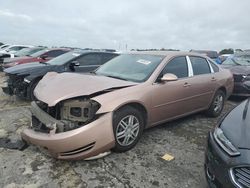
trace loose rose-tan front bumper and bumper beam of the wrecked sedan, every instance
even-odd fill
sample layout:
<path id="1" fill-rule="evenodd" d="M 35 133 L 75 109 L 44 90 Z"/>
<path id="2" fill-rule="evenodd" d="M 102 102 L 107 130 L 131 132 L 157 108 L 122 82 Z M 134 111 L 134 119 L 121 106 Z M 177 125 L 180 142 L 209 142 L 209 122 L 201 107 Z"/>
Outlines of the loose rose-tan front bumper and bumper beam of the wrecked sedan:
<path id="1" fill-rule="evenodd" d="M 35 102 L 31 104 L 33 118 L 40 126 L 45 126 L 45 131 L 38 131 L 39 127 L 32 125 L 32 121 L 31 127 L 21 133 L 22 139 L 48 150 L 55 158 L 85 159 L 106 152 L 115 144 L 112 112 L 77 129 L 56 133 L 56 127 L 63 121 L 50 116 Z"/>

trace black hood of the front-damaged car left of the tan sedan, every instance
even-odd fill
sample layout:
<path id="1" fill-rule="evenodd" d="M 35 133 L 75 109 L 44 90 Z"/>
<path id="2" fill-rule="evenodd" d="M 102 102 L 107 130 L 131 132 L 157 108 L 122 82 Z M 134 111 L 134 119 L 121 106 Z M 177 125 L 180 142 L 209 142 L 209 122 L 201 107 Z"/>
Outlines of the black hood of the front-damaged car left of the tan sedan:
<path id="1" fill-rule="evenodd" d="M 43 64 L 43 63 L 27 63 L 22 65 L 16 65 L 14 67 L 10 67 L 4 70 L 4 72 L 8 74 L 18 74 L 18 75 L 30 75 L 36 72 L 48 72 L 53 70 L 55 66 Z"/>

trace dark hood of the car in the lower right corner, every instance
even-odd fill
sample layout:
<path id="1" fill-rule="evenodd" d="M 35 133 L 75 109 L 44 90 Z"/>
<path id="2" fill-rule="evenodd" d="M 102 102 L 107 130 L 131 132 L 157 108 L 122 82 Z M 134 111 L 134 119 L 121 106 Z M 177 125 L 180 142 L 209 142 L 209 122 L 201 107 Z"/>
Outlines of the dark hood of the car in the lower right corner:
<path id="1" fill-rule="evenodd" d="M 249 100 L 234 108 L 220 126 L 225 136 L 240 149 L 250 149 Z"/>

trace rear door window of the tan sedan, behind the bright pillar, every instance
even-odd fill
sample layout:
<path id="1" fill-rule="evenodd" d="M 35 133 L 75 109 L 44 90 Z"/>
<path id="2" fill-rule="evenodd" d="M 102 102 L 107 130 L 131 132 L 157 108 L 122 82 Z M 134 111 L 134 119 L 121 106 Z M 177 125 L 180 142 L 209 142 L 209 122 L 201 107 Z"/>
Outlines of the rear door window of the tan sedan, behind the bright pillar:
<path id="1" fill-rule="evenodd" d="M 189 57 L 192 63 L 194 75 L 211 73 L 208 62 L 202 57 Z"/>

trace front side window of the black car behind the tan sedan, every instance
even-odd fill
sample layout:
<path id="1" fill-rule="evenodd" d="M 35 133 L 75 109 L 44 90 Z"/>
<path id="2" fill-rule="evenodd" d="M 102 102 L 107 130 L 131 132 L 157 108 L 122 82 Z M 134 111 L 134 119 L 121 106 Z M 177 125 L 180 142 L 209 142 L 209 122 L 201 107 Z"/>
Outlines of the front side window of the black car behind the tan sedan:
<path id="1" fill-rule="evenodd" d="M 77 60 L 80 63 L 80 66 L 87 66 L 87 65 L 101 65 L 101 55 L 98 53 L 87 54 L 80 57 Z"/>

